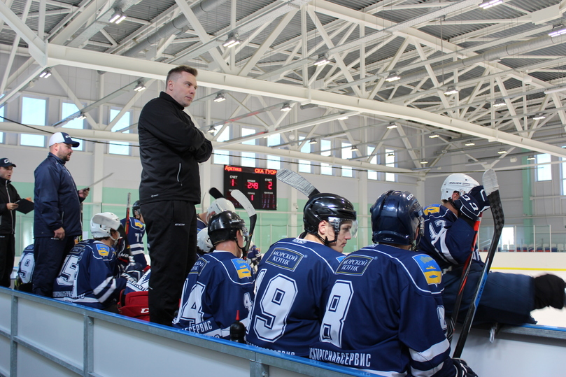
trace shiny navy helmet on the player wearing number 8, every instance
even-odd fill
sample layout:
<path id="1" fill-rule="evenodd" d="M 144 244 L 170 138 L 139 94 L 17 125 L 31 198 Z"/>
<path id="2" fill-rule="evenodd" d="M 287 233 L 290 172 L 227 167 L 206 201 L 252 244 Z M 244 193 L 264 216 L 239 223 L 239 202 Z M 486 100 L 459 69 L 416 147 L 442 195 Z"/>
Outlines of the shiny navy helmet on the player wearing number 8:
<path id="1" fill-rule="evenodd" d="M 423 207 L 410 192 L 384 192 L 369 212 L 372 213 L 372 240 L 375 243 L 418 243 L 417 229 L 419 233 L 423 232 Z"/>

